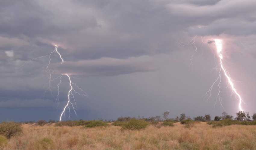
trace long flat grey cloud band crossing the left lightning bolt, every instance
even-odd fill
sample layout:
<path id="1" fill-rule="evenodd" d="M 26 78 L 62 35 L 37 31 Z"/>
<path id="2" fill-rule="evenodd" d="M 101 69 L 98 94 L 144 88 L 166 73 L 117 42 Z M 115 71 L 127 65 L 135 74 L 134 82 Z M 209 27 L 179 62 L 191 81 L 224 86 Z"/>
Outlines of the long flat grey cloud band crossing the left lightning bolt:
<path id="1" fill-rule="evenodd" d="M 151 72 L 157 68 L 153 62 L 129 59 L 100 58 L 97 60 L 68 61 L 58 65 L 55 73 L 81 76 L 117 76 L 135 72 Z"/>

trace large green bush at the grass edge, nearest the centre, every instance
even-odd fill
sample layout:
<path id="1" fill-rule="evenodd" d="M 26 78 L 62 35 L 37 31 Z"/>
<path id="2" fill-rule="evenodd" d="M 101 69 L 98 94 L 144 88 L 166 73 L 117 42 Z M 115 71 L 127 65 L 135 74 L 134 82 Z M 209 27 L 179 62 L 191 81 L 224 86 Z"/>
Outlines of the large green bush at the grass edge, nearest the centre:
<path id="1" fill-rule="evenodd" d="M 127 124 L 124 124 L 121 130 L 141 130 L 145 129 L 148 125 L 148 122 L 145 120 L 137 120 L 137 119 L 130 119 Z"/>

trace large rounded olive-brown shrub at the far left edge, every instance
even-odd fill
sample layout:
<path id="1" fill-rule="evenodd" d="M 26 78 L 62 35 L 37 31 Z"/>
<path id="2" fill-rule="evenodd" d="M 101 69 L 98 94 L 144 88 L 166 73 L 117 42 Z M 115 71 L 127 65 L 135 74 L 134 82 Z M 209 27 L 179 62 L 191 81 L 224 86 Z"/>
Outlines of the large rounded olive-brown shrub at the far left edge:
<path id="1" fill-rule="evenodd" d="M 14 137 L 17 134 L 22 133 L 21 124 L 18 122 L 2 122 L 0 124 L 0 134 L 5 136 L 7 139 Z"/>

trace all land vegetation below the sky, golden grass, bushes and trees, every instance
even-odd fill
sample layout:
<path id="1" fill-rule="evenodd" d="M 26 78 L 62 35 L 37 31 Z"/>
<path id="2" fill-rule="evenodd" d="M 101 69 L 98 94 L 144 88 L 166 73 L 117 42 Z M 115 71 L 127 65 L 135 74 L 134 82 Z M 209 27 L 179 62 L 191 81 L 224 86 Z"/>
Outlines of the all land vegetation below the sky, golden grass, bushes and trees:
<path id="1" fill-rule="evenodd" d="M 256 149 L 255 113 L 240 111 L 233 120 L 223 112 L 214 121 L 207 114 L 193 121 L 186 114 L 176 119 L 168 115 L 163 114 L 164 120 L 161 116 L 120 117 L 114 122 L 50 120 L 42 127 L 39 121 L 2 122 L 0 149 Z M 15 136 L 19 133 L 23 134 Z"/>

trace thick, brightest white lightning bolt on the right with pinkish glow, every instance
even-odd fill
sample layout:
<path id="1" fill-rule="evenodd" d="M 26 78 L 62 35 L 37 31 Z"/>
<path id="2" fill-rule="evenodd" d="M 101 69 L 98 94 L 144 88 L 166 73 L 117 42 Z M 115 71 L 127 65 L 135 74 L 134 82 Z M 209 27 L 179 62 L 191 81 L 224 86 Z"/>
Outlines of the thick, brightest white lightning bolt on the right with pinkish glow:
<path id="1" fill-rule="evenodd" d="M 236 88 L 235 88 L 235 86 L 234 86 L 234 83 L 233 83 L 233 80 L 231 79 L 231 77 L 230 77 L 230 74 L 229 74 L 229 72 L 226 70 L 226 68 L 223 66 L 223 55 L 222 55 L 222 40 L 220 40 L 220 39 L 215 39 L 214 40 L 215 41 L 215 45 L 216 45 L 216 50 L 217 50 L 217 55 L 218 55 L 218 57 L 220 58 L 220 70 L 219 70 L 219 76 L 218 76 L 218 78 L 214 81 L 214 83 L 212 84 L 212 86 L 209 88 L 209 90 L 205 93 L 205 98 L 206 97 L 208 97 L 208 95 L 209 95 L 209 97 L 208 97 L 208 99 L 211 97 L 211 90 L 212 90 L 212 88 L 213 88 L 213 86 L 215 85 L 215 83 L 216 82 L 218 82 L 218 80 L 219 80 L 219 83 L 218 83 L 218 95 L 217 95 L 217 98 L 219 99 L 219 101 L 220 101 L 220 104 L 221 104 L 221 106 L 222 106 L 222 99 L 221 99 L 221 97 L 220 97 L 220 83 L 221 83 L 221 72 L 223 72 L 224 73 L 224 75 L 225 75 L 225 77 L 226 77 L 226 79 L 227 79 L 227 81 L 228 81 L 228 84 L 231 86 L 231 90 L 232 90 L 232 94 L 233 93 L 235 93 L 235 95 L 236 95 L 236 98 L 238 97 L 238 100 L 239 100 L 239 106 L 238 106 L 238 108 L 239 108 L 239 111 L 243 111 L 242 110 L 242 103 L 244 103 L 243 102 L 243 100 L 242 100 L 242 98 L 241 98 L 241 96 L 239 95 L 239 93 L 236 91 Z M 232 95 L 231 94 L 231 95 Z M 216 98 L 216 100 L 217 100 L 217 98 Z M 207 99 L 207 100 L 208 100 Z M 216 104 L 216 103 L 215 103 Z M 223 107 L 223 106 L 222 106 Z"/>

